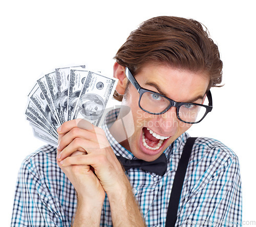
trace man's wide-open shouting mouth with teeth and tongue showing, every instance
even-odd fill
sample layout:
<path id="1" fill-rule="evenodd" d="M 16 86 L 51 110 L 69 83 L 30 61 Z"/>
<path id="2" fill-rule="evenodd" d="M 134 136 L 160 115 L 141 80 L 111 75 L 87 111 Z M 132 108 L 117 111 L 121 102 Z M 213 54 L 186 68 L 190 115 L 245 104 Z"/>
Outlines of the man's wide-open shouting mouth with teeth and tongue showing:
<path id="1" fill-rule="evenodd" d="M 163 137 L 152 131 L 150 128 L 142 129 L 142 143 L 143 146 L 149 150 L 158 150 L 163 145 L 163 142 L 169 137 Z"/>

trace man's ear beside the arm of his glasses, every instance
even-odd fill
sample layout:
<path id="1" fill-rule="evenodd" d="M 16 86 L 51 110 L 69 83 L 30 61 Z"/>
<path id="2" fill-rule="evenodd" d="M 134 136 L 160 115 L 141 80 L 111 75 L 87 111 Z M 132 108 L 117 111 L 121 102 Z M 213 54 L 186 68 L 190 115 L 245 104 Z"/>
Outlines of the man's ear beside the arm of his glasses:
<path id="1" fill-rule="evenodd" d="M 114 77 L 118 79 L 118 82 L 116 85 L 116 91 L 119 95 L 123 95 L 125 92 L 126 84 L 127 84 L 125 67 L 115 62 L 113 71 L 114 71 Z"/>

